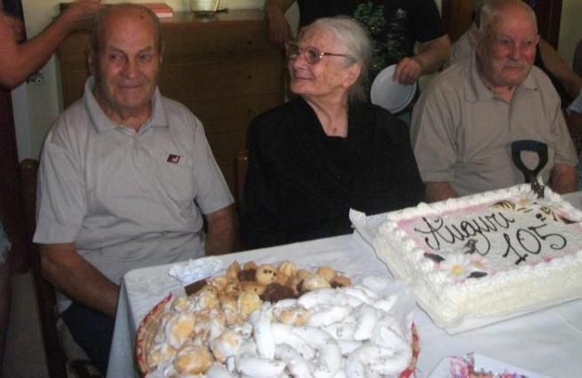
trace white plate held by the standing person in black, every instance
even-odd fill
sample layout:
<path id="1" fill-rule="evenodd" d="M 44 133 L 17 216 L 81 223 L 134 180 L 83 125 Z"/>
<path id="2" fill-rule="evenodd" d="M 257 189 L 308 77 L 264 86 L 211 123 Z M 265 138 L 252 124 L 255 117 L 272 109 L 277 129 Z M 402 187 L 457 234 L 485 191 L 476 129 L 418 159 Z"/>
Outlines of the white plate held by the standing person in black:
<path id="1" fill-rule="evenodd" d="M 406 107 L 414 97 L 417 83 L 402 85 L 392 79 L 396 65 L 381 70 L 371 83 L 371 103 L 382 106 L 390 113 L 398 113 Z"/>

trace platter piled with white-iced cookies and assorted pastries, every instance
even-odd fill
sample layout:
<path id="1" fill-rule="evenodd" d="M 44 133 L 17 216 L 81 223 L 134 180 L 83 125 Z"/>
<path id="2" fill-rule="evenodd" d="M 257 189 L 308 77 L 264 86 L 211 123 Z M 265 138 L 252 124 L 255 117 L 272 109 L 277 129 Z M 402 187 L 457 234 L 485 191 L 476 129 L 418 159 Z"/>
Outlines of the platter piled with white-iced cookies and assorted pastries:
<path id="1" fill-rule="evenodd" d="M 234 262 L 171 292 L 141 321 L 148 377 L 407 377 L 419 341 L 384 278 L 330 266 Z M 412 301 L 413 302 L 413 301 Z"/>

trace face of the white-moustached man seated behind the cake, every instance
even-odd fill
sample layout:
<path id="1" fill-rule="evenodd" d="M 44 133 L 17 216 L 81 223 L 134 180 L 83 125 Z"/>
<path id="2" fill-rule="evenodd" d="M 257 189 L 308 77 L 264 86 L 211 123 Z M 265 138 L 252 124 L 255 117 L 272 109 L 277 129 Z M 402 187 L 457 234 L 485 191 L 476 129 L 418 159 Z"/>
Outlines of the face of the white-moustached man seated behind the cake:
<path id="1" fill-rule="evenodd" d="M 539 35 L 525 12 L 507 12 L 482 36 L 477 55 L 483 80 L 496 87 L 515 87 L 530 73 Z"/>

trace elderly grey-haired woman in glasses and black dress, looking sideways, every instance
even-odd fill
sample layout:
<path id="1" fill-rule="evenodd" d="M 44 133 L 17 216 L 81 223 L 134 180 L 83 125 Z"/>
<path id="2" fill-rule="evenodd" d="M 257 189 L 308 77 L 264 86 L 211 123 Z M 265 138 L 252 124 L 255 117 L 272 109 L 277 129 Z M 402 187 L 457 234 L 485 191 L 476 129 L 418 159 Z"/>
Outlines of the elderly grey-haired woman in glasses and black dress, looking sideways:
<path id="1" fill-rule="evenodd" d="M 349 209 L 413 206 L 424 187 L 409 131 L 367 101 L 371 43 L 343 16 L 316 20 L 286 45 L 297 98 L 248 133 L 241 227 L 248 248 L 352 231 Z"/>

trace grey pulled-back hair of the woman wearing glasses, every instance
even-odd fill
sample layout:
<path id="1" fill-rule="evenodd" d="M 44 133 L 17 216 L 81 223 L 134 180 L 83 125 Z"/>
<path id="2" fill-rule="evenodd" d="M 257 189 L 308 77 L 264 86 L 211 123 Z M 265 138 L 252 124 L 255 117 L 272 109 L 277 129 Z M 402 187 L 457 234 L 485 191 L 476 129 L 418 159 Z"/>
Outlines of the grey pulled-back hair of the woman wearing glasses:
<path id="1" fill-rule="evenodd" d="M 299 38 L 310 29 L 322 29 L 334 35 L 339 43 L 347 49 L 346 67 L 356 63 L 360 65 L 360 75 L 348 89 L 350 103 L 366 101 L 368 99 L 368 67 L 371 63 L 371 41 L 368 31 L 357 20 L 347 16 L 325 17 L 315 20 L 312 24 L 302 28 Z M 335 52 L 335 51 L 334 51 Z"/>

